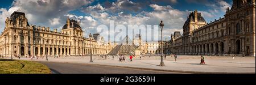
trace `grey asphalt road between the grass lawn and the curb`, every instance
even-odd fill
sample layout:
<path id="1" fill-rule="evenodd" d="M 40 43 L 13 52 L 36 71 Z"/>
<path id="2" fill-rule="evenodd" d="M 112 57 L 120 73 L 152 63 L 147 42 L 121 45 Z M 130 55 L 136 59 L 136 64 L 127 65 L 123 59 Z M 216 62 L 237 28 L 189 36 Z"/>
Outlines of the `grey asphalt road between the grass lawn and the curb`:
<path id="1" fill-rule="evenodd" d="M 180 74 L 168 71 L 131 69 L 126 67 L 100 66 L 82 63 L 40 62 L 53 74 Z"/>

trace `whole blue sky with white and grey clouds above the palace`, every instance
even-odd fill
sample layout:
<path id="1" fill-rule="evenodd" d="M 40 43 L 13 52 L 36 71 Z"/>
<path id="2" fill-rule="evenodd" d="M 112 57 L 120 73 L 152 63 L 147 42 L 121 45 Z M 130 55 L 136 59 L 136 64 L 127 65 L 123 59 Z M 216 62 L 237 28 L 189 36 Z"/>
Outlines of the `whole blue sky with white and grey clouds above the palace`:
<path id="1" fill-rule="evenodd" d="M 76 19 L 85 31 L 84 36 L 96 33 L 98 25 L 129 24 L 158 25 L 164 22 L 164 39 L 170 39 L 174 31 L 182 27 L 189 12 L 198 10 L 205 20 L 223 18 L 232 0 L 14 0 L 0 1 L 0 32 L 5 19 L 14 11 L 26 13 L 29 24 L 61 30 L 67 18 Z M 128 29 L 129 30 L 129 29 Z M 181 32 L 182 33 L 182 32 Z M 101 33 L 105 39 L 106 33 Z M 129 34 L 130 35 L 130 34 Z M 132 36 L 131 36 L 132 37 Z M 111 39 L 113 41 L 114 39 Z"/>

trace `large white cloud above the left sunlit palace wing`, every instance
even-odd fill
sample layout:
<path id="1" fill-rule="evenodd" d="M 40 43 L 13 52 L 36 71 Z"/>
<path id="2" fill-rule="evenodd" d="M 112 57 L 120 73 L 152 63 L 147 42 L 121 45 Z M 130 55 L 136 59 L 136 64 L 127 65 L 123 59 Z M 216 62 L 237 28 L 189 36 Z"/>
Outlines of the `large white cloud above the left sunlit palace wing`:
<path id="1" fill-rule="evenodd" d="M 93 0 L 15 0 L 9 8 L 9 14 L 14 11 L 25 12 L 28 23 L 48 26 L 51 29 L 62 27 L 67 20 L 69 11 L 88 5 Z M 82 18 L 78 16 L 77 18 Z M 48 21 L 48 22 L 47 22 Z M 2 23 L 1 23 L 2 24 Z M 51 24 L 51 25 L 48 25 Z"/>

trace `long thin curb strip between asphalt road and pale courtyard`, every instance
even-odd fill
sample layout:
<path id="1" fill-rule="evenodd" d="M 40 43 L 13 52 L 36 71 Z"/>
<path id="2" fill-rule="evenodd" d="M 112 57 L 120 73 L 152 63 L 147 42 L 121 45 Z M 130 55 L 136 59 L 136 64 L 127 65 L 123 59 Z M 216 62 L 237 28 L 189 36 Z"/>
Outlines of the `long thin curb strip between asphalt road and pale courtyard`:
<path id="1" fill-rule="evenodd" d="M 42 61 L 42 62 L 54 62 L 54 61 Z M 77 62 L 59 62 L 59 63 L 77 63 Z M 103 64 L 97 64 L 97 63 L 77 63 L 77 64 L 110 66 L 110 67 L 124 67 L 124 68 L 130 68 L 130 69 L 141 69 L 141 70 L 151 70 L 151 71 L 166 71 L 166 72 L 176 72 L 176 73 L 190 73 L 190 74 L 255 74 L 255 73 L 228 73 L 228 72 L 202 72 L 202 71 L 164 70 L 164 69 L 151 69 L 151 68 L 131 67 L 131 66 L 103 65 Z"/>

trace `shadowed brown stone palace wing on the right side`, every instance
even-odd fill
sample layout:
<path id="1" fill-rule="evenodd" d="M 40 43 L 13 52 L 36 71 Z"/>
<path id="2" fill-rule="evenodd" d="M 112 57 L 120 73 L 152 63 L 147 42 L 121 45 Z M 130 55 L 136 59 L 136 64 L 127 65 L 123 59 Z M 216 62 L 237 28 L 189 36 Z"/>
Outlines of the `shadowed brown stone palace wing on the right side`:
<path id="1" fill-rule="evenodd" d="M 205 23 L 199 12 L 191 12 L 183 35 L 168 41 L 171 52 L 255 57 L 255 0 L 233 0 L 232 8 L 227 8 L 224 16 Z"/>

